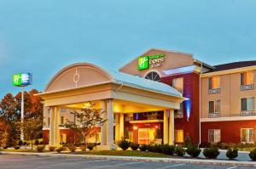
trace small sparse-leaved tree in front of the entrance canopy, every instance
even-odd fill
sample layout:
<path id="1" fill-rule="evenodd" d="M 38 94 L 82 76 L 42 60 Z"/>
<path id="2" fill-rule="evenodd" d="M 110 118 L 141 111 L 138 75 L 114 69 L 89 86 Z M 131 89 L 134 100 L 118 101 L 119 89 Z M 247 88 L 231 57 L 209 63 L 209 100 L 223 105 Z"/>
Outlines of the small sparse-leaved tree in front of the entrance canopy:
<path id="1" fill-rule="evenodd" d="M 69 121 L 63 125 L 66 128 L 73 130 L 73 132 L 79 134 L 84 141 L 84 151 L 87 147 L 87 138 L 93 134 L 93 128 L 96 126 L 102 126 L 107 120 L 102 118 L 102 109 L 95 109 L 93 104 L 90 104 L 88 108 L 82 109 L 81 112 L 73 111 L 75 121 Z"/>

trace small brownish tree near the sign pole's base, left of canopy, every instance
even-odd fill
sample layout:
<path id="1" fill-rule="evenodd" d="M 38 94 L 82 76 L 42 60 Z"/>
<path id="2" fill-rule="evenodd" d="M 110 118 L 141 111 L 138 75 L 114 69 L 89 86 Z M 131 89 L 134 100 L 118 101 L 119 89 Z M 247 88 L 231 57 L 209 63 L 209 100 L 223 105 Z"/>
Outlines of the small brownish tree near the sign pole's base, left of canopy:
<path id="1" fill-rule="evenodd" d="M 33 141 L 38 138 L 42 131 L 43 121 L 38 118 L 26 118 L 23 122 L 17 121 L 15 124 L 19 129 L 23 130 L 25 138 L 31 141 L 31 149 L 33 149 Z"/>

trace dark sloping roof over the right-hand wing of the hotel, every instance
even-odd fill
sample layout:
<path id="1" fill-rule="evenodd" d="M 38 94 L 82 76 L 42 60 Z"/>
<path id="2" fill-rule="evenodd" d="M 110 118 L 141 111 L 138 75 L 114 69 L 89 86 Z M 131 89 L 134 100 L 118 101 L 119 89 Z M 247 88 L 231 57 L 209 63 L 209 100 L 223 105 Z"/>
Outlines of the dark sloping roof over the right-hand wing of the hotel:
<path id="1" fill-rule="evenodd" d="M 215 67 L 215 69 L 211 70 L 209 72 L 221 71 L 221 70 L 232 70 L 232 69 L 236 69 L 236 68 L 253 66 L 253 65 L 256 65 L 256 60 L 232 62 L 232 63 L 228 63 L 228 64 L 223 64 L 223 65 L 214 65 L 213 67 Z"/>

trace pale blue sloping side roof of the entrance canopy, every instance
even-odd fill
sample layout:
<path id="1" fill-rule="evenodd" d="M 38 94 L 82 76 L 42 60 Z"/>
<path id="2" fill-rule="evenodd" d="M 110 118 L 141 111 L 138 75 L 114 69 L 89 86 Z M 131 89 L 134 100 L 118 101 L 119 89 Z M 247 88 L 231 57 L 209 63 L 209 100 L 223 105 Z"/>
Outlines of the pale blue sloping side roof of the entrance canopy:
<path id="1" fill-rule="evenodd" d="M 113 77 L 113 82 L 115 83 L 123 83 L 129 87 L 136 87 L 141 89 L 150 90 L 157 93 L 164 93 L 167 95 L 172 95 L 176 97 L 183 97 L 182 93 L 179 93 L 175 88 L 162 83 L 162 82 L 154 82 L 148 79 L 144 79 L 138 76 L 132 76 L 117 70 L 107 70 L 104 69 Z"/>

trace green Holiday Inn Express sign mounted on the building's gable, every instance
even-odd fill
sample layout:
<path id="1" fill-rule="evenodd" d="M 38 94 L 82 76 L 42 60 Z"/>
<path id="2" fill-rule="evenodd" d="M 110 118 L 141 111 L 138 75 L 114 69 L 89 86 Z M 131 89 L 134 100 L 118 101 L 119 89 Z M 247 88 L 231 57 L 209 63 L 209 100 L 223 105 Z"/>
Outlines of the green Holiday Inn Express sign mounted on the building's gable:
<path id="1" fill-rule="evenodd" d="M 142 56 L 137 60 L 137 68 L 138 70 L 146 70 L 150 66 L 160 67 L 161 63 L 165 61 L 165 54 L 155 54 L 151 56 Z"/>

